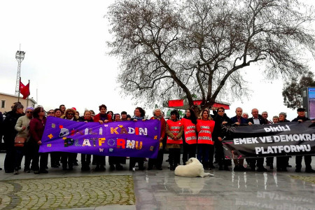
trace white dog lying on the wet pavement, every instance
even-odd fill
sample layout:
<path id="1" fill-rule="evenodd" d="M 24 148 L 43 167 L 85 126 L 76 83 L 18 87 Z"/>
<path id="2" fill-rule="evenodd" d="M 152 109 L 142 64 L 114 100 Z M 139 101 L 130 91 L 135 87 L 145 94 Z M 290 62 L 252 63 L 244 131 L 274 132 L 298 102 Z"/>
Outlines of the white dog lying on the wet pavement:
<path id="1" fill-rule="evenodd" d="M 214 176 L 214 174 L 204 173 L 204 167 L 197 158 L 189 158 L 186 165 L 179 165 L 176 167 L 175 175 L 185 177 Z"/>

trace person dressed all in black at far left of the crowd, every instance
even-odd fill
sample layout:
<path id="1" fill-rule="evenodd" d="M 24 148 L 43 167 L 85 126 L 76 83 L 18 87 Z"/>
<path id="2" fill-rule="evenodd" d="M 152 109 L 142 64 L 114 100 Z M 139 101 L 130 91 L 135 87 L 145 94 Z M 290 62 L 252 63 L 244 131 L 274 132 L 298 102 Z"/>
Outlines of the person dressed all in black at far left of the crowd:
<path id="1" fill-rule="evenodd" d="M 24 115 L 24 106 L 20 103 L 15 103 L 12 111 L 6 113 L 6 118 L 3 120 L 3 141 L 6 148 L 6 158 L 4 159 L 4 171 L 6 173 L 13 173 L 15 162 L 15 146 L 14 139 L 18 133 L 15 130 L 18 118 Z"/>

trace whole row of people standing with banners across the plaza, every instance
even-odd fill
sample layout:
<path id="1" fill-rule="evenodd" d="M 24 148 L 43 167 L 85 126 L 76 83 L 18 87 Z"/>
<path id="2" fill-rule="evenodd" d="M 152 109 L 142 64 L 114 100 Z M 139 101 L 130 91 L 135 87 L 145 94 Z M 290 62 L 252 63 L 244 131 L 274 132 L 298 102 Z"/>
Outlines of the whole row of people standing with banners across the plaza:
<path id="1" fill-rule="evenodd" d="M 47 174 L 48 173 L 48 153 L 38 153 L 39 146 L 41 145 L 41 137 L 45 128 L 46 113 L 42 106 L 24 107 L 19 102 L 14 103 L 11 107 L 12 111 L 6 113 L 6 118 L 1 125 L 1 134 L 6 146 L 6 158 L 4 161 L 4 170 L 6 173 L 19 174 L 21 169 L 21 162 L 23 155 L 25 155 L 24 172 L 29 173 L 31 170 L 34 174 Z M 213 110 L 213 114 L 209 109 L 204 109 L 200 116 L 196 116 L 193 109 L 187 109 L 185 116 L 180 118 L 179 112 L 173 110 L 168 120 L 165 120 L 164 114 L 161 109 L 153 111 L 151 119 L 160 120 L 161 133 L 160 133 L 160 148 L 158 157 L 148 160 L 148 170 L 155 169 L 162 170 L 162 162 L 165 149 L 169 151 L 169 168 L 174 170 L 181 162 L 181 149 L 183 149 L 182 161 L 185 165 L 189 158 L 195 158 L 202 162 L 204 169 L 214 169 L 214 163 L 218 164 L 219 170 L 230 170 L 232 162 L 225 159 L 222 140 L 225 133 L 222 127 L 225 125 L 241 126 L 260 124 L 265 125 L 269 123 L 286 123 L 286 113 L 279 113 L 279 116 L 274 116 L 272 121 L 267 120 L 268 113 L 262 112 L 261 115 L 258 109 L 252 109 L 252 118 L 248 118 L 248 114 L 243 113 L 243 110 L 238 107 L 235 111 L 236 116 L 228 118 L 223 107 Z M 305 110 L 297 109 L 298 116 L 294 121 L 304 122 L 309 120 L 305 117 Z M 95 115 L 92 110 L 85 110 L 83 116 L 79 116 L 75 108 L 66 109 L 62 104 L 59 109 L 50 109 L 47 112 L 48 116 L 56 118 L 64 118 L 66 120 L 75 120 L 80 122 L 98 122 L 98 123 L 111 123 L 113 121 L 125 120 L 148 120 L 145 118 L 146 112 L 141 107 L 134 110 L 134 116 L 131 117 L 127 112 L 113 113 L 107 111 L 107 107 L 102 104 L 99 106 L 99 113 Z M 25 139 L 22 146 L 17 146 L 16 139 Z M 105 156 L 100 155 L 86 155 L 81 154 L 81 170 L 89 171 L 90 165 L 96 165 L 94 171 L 104 171 L 106 165 Z M 92 160 L 92 161 L 91 161 Z M 144 162 L 146 158 L 130 158 L 130 170 L 134 170 L 136 165 L 139 170 L 144 170 Z M 234 160 L 235 171 L 257 171 L 267 172 L 264 167 L 264 158 L 251 158 L 246 159 L 249 167 L 244 167 L 244 159 Z M 302 156 L 297 155 L 295 172 L 301 172 Z M 311 168 L 311 155 L 304 156 L 305 172 L 315 172 Z M 51 167 L 62 167 L 63 170 L 72 170 L 73 166 L 78 165 L 76 153 L 65 152 L 52 152 L 50 153 Z M 126 157 L 109 157 L 109 169 L 121 170 L 123 164 L 126 163 Z M 273 169 L 274 158 L 266 158 L 266 165 Z M 279 172 L 287 171 L 288 157 L 276 158 L 276 169 Z"/>

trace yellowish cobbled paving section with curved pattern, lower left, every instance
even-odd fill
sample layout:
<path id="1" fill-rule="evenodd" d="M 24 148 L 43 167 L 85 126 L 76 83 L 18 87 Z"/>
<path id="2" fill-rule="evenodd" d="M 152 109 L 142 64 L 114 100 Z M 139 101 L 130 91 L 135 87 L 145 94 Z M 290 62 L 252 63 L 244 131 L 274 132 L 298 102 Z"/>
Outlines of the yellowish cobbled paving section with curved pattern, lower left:
<path id="1" fill-rule="evenodd" d="M 0 181 L 0 209 L 69 209 L 135 204 L 132 176 Z"/>

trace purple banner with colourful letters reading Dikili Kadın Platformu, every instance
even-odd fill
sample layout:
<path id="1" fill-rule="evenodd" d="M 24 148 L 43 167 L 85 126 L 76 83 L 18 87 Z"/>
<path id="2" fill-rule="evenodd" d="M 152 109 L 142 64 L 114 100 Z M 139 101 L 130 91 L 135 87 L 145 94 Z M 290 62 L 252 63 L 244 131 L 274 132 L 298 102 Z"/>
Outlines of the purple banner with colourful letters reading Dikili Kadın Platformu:
<path id="1" fill-rule="evenodd" d="M 48 116 L 39 152 L 156 158 L 160 146 L 160 125 L 159 120 L 101 125 Z"/>

